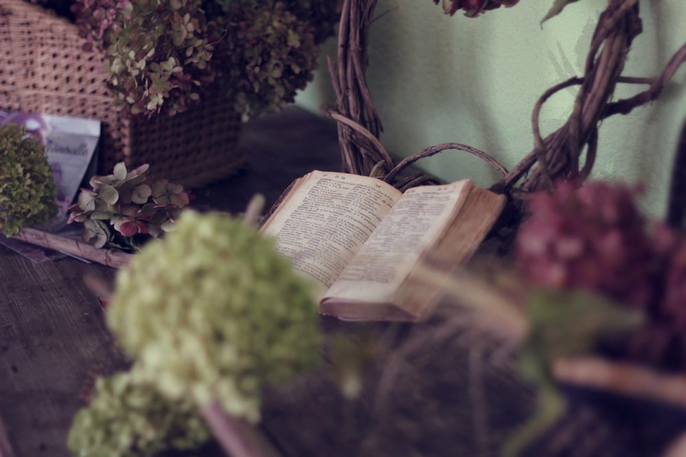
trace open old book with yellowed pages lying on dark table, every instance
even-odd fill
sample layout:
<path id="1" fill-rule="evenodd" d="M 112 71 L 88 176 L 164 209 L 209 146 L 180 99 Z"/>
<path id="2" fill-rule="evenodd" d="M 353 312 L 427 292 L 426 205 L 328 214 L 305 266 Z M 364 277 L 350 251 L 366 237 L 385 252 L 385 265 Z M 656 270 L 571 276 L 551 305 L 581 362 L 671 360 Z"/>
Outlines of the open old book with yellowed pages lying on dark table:
<path id="1" fill-rule="evenodd" d="M 418 287 L 412 271 L 464 263 L 504 203 L 470 180 L 403 194 L 373 177 L 313 171 L 292 184 L 261 230 L 319 285 L 322 314 L 418 320 L 439 297 Z"/>

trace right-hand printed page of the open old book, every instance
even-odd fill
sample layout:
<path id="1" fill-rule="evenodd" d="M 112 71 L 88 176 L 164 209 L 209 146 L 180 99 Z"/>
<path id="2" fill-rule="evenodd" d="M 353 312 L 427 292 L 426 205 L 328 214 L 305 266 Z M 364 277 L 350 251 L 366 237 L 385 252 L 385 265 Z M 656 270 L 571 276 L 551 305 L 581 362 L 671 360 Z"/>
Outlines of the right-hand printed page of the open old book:
<path id="1" fill-rule="evenodd" d="M 423 251 L 445 231 L 467 182 L 407 190 L 324 300 L 390 300 Z"/>

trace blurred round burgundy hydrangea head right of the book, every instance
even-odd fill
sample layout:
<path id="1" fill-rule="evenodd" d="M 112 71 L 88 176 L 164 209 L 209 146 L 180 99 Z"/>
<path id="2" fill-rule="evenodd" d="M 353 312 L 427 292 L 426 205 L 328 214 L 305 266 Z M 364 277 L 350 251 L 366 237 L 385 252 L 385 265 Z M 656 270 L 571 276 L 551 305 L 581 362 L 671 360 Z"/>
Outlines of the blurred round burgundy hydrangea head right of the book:
<path id="1" fill-rule="evenodd" d="M 556 184 L 536 193 L 517 235 L 520 271 L 535 284 L 604 293 L 648 306 L 654 288 L 654 246 L 647 221 L 624 184 Z"/>

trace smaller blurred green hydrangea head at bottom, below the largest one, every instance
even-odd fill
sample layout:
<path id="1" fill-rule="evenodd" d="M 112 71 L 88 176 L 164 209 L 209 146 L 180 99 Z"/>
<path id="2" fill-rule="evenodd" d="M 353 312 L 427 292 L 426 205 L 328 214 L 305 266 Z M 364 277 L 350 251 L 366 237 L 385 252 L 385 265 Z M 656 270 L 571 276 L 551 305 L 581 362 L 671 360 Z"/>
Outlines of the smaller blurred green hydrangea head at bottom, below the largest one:
<path id="1" fill-rule="evenodd" d="M 200 449 L 210 434 L 188 399 L 170 401 L 136 380 L 137 369 L 99 378 L 87 408 L 74 417 L 67 445 L 74 457 L 153 457 L 165 449 Z"/>

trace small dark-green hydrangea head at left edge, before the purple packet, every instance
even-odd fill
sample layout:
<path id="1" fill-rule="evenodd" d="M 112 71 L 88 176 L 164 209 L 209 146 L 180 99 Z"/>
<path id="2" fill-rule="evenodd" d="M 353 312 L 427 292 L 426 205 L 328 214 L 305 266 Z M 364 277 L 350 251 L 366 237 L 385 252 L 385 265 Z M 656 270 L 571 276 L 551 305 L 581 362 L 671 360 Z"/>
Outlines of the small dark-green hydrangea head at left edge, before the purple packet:
<path id="1" fill-rule="evenodd" d="M 0 125 L 0 232 L 46 224 L 57 214 L 57 185 L 45 147 L 25 127 Z"/>

